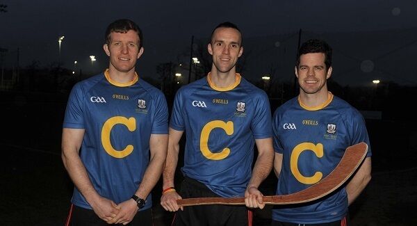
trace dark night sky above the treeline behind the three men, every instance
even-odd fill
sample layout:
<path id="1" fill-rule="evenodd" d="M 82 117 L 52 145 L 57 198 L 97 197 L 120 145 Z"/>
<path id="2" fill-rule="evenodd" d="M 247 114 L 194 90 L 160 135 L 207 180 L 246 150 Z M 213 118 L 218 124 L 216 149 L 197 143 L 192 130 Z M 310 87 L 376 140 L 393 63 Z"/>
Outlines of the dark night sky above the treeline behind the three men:
<path id="1" fill-rule="evenodd" d="M 291 79 L 297 31 L 302 29 L 306 31 L 302 40 L 318 36 L 327 38 L 334 46 L 338 53 L 334 57 L 334 67 L 338 65 L 338 68 L 334 68 L 334 77 L 337 76 L 336 72 L 352 71 L 352 64 L 352 68 L 358 69 L 355 74 L 363 73 L 366 70 L 363 60 L 378 58 L 379 60 L 372 61 L 375 64 L 374 72 L 378 72 L 383 79 L 407 85 L 417 84 L 417 70 L 413 67 L 414 61 L 411 61 L 417 55 L 417 44 L 414 42 L 417 40 L 417 1 L 414 0 L 345 3 L 334 0 L 0 0 L 0 3 L 8 5 L 8 12 L 0 13 L 0 47 L 9 51 L 19 47 L 22 67 L 33 60 L 39 60 L 45 66 L 58 61 L 58 37 L 65 35 L 61 45 L 61 58 L 65 66 L 71 68 L 74 60 L 77 60 L 77 67 L 83 71 L 98 72 L 108 65 L 108 59 L 102 51 L 106 26 L 115 19 L 129 18 L 145 34 L 145 54 L 139 60 L 137 70 L 142 76 L 157 77 L 155 65 L 177 62 L 177 56 L 187 51 L 191 35 L 208 38 L 218 23 L 231 21 L 238 24 L 243 31 L 244 40 L 248 40 L 246 43 L 250 48 L 247 49 L 256 56 L 252 57 L 253 62 L 257 58 L 263 59 L 264 63 L 264 66 L 256 63 L 257 67 L 248 65 L 244 76 L 250 74 L 260 77 L 268 69 L 259 67 L 268 67 L 281 61 L 286 63 L 277 64 L 285 67 L 285 70 L 279 70 L 280 74 L 277 76 L 281 76 L 283 80 Z M 367 41 L 366 38 L 361 38 L 363 34 L 369 35 Z M 291 41 L 285 41 L 286 37 L 292 37 Z M 373 37 L 381 39 L 376 40 Z M 360 45 L 355 45 L 355 42 L 360 42 Z M 365 42 L 374 45 L 367 45 Z M 277 54 L 279 52 L 281 54 Z M 370 52 L 373 54 L 369 54 Z M 97 57 L 93 66 L 90 55 Z M 279 57 L 285 59 L 280 60 Z M 404 63 L 404 60 L 409 60 L 409 63 Z M 387 64 L 391 66 L 388 67 Z M 404 64 L 407 68 L 398 64 Z M 379 65 L 384 65 L 385 68 Z M 365 77 L 362 76 L 362 79 L 371 80 L 378 73 L 363 75 Z M 359 78 L 358 81 L 360 80 Z M 336 81 L 343 84 L 354 83 L 347 76 L 341 76 Z"/>

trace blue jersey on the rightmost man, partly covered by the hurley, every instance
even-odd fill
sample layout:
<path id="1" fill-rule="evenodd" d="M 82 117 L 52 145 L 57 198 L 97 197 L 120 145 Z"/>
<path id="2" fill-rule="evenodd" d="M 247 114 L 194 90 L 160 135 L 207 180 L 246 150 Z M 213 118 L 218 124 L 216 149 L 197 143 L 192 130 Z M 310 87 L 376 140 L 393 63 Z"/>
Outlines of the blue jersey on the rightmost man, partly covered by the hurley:
<path id="1" fill-rule="evenodd" d="M 277 195 L 302 191 L 325 178 L 350 145 L 365 142 L 369 147 L 366 156 L 371 156 L 363 117 L 330 92 L 327 102 L 319 108 L 308 108 L 293 98 L 275 111 L 272 121 L 274 149 L 283 154 Z M 341 220 L 346 213 L 347 193 L 341 188 L 320 200 L 276 207 L 272 219 L 320 224 Z"/>

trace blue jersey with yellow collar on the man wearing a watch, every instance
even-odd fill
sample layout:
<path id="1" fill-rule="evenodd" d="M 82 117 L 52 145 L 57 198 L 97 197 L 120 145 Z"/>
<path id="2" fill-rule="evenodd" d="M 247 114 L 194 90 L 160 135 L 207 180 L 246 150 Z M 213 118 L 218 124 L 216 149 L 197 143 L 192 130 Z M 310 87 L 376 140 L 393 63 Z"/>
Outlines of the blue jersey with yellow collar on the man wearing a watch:
<path id="1" fill-rule="evenodd" d="M 85 129 L 80 157 L 97 193 L 115 203 L 138 190 L 149 163 L 151 134 L 167 134 L 165 97 L 138 79 L 111 81 L 108 71 L 77 83 L 65 111 L 64 128 Z M 146 198 L 144 209 L 152 207 Z M 74 188 L 72 203 L 92 209 Z"/>

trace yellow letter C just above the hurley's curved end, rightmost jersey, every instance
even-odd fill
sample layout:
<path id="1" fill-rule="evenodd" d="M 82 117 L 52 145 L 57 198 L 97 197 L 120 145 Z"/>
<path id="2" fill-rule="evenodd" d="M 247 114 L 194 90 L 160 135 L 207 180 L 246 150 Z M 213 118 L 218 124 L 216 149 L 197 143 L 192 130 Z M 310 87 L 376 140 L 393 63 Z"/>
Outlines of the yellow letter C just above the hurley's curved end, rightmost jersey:
<path id="1" fill-rule="evenodd" d="M 322 179 L 322 172 L 315 172 L 312 177 L 304 177 L 300 170 L 298 170 L 298 158 L 300 157 L 301 152 L 306 150 L 311 150 L 321 158 L 323 156 L 323 145 L 318 143 L 314 145 L 313 143 L 300 143 L 294 147 L 293 153 L 291 154 L 291 172 L 293 172 L 294 177 L 303 184 L 316 184 L 320 179 Z"/>

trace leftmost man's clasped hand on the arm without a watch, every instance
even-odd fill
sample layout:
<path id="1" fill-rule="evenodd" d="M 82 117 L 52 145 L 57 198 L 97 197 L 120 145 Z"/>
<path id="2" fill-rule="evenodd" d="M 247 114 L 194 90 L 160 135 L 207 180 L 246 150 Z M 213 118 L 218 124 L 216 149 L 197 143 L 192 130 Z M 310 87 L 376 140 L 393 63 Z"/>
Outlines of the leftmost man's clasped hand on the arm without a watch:
<path id="1" fill-rule="evenodd" d="M 112 200 L 108 200 L 105 197 L 95 197 L 92 202 L 90 202 L 92 210 L 99 216 L 100 219 L 108 222 L 113 219 L 120 209 L 117 209 L 117 204 Z"/>

